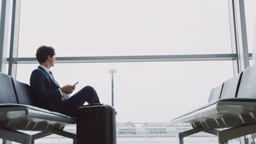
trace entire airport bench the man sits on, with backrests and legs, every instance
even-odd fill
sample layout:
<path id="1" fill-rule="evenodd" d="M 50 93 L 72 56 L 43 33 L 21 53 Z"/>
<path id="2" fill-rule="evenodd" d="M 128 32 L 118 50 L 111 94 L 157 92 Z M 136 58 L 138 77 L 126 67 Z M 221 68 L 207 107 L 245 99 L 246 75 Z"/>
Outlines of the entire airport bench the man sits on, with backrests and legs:
<path id="1" fill-rule="evenodd" d="M 3 143 L 34 143 L 44 136 L 57 134 L 73 139 L 76 135 L 63 131 L 77 119 L 36 106 L 30 86 L 0 73 L 0 138 Z M 18 130 L 41 131 L 28 135 Z"/>

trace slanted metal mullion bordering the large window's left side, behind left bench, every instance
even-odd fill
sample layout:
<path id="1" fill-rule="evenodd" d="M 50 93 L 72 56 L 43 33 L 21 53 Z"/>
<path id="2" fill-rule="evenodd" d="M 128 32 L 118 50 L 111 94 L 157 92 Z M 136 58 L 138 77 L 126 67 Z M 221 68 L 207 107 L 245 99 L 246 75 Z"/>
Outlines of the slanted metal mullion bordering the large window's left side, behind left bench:
<path id="1" fill-rule="evenodd" d="M 20 3 L 21 0 L 13 0 L 13 14 L 11 16 L 11 38 L 8 74 L 16 79 L 17 64 L 13 58 L 18 57 L 19 28 L 20 28 Z"/>

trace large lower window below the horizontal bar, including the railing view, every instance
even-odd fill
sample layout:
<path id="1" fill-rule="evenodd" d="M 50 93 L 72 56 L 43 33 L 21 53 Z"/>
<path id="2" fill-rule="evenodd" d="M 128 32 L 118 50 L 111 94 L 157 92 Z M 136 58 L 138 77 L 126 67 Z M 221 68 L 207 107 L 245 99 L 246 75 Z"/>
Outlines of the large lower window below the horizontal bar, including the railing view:
<path id="1" fill-rule="evenodd" d="M 18 64 L 17 80 L 29 83 L 31 71 L 37 67 L 38 64 Z M 111 68 L 117 70 L 114 104 L 118 112 L 117 141 L 123 144 L 177 143 L 176 134 L 191 129 L 191 126 L 176 127 L 168 121 L 206 104 L 211 89 L 233 75 L 232 61 L 56 63 L 51 71 L 61 86 L 79 81 L 77 92 L 83 86 L 91 85 L 101 101 L 110 105 Z M 65 130 L 75 133 L 75 125 Z M 72 143 L 72 140 L 50 135 L 36 142 Z M 200 142 L 216 143 L 218 139 L 206 133 L 185 138 L 185 143 Z"/>

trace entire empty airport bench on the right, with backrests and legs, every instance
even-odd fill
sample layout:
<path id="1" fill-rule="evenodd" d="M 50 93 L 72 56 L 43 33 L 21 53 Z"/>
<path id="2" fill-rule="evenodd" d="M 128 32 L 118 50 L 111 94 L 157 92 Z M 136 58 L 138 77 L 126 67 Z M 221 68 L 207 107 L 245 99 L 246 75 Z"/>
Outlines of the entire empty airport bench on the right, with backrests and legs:
<path id="1" fill-rule="evenodd" d="M 256 66 L 247 68 L 213 88 L 206 105 L 172 119 L 170 124 L 188 123 L 193 127 L 179 133 L 179 142 L 182 144 L 185 136 L 200 131 L 218 135 L 219 143 L 256 133 L 255 74 Z"/>

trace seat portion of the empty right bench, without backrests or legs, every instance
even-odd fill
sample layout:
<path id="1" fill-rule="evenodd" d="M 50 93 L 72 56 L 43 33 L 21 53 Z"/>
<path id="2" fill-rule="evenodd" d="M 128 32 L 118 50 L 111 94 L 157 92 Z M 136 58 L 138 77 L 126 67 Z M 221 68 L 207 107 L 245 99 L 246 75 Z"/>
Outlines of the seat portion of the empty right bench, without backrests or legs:
<path id="1" fill-rule="evenodd" d="M 221 99 L 216 101 L 216 103 L 204 105 L 200 107 L 200 109 L 193 110 L 186 113 L 185 115 L 182 115 L 181 117 L 172 119 L 170 123 L 196 124 L 200 122 L 200 126 L 205 128 L 226 128 L 234 125 L 256 123 L 256 119 L 255 122 L 253 119 L 256 114 L 255 102 L 256 99 Z M 245 117 L 244 115 L 248 115 L 250 117 L 243 118 Z M 232 120 L 235 120 L 235 117 L 238 118 L 237 121 L 232 122 L 235 124 L 232 124 L 231 122 L 225 122 L 225 120 L 228 121 L 228 118 L 230 117 L 232 118 Z M 215 119 L 217 118 L 223 119 L 222 121 L 218 122 L 215 121 Z M 210 122 L 209 120 L 213 120 L 213 122 Z M 196 125 L 193 126 L 196 128 Z"/>

